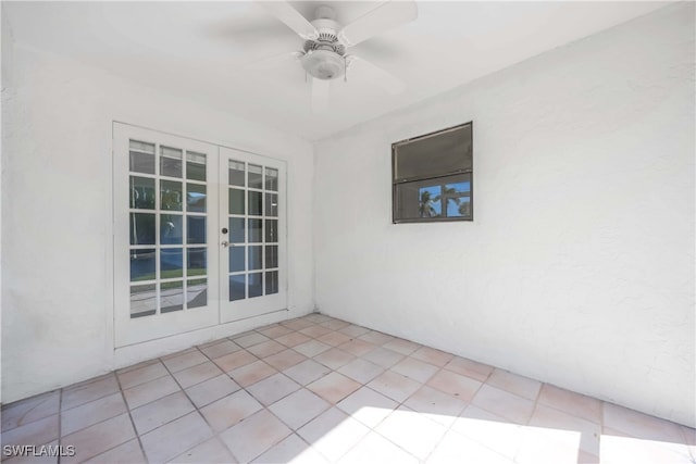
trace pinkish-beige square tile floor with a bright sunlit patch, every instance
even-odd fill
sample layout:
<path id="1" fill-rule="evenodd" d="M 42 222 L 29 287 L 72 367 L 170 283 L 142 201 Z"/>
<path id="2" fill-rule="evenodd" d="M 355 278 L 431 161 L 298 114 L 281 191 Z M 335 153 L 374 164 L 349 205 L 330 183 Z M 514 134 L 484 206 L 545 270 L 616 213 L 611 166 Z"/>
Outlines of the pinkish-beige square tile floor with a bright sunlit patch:
<path id="1" fill-rule="evenodd" d="M 73 446 L 61 463 L 696 462 L 694 429 L 320 314 L 8 404 L 2 444 Z"/>

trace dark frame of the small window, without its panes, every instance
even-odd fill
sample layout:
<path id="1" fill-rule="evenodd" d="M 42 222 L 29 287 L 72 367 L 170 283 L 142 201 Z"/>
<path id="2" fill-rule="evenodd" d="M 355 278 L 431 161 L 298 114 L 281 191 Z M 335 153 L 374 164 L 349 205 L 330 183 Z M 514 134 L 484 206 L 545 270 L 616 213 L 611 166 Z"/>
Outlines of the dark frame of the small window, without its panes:
<path id="1" fill-rule="evenodd" d="M 471 167 L 469 168 L 464 168 L 464 170 L 457 170 L 457 171 L 452 171 L 452 172 L 447 172 L 447 173 L 443 173 L 443 174 L 438 174 L 438 175 L 424 175 L 424 176 L 415 176 L 415 177 L 409 177 L 409 178 L 397 178 L 397 149 L 400 146 L 403 146 L 406 143 L 410 143 L 413 141 L 418 141 L 418 140 L 422 140 L 425 138 L 430 138 L 430 137 L 436 137 L 438 135 L 442 134 L 446 134 L 446 133 L 450 133 L 450 131 L 455 131 L 461 128 L 464 128 L 469 126 L 470 127 L 470 135 L 471 135 Z M 412 137 L 409 139 L 405 139 L 405 140 L 400 140 L 397 142 L 391 143 L 391 222 L 393 224 L 413 224 L 413 223 L 446 223 L 446 222 L 473 222 L 474 221 L 474 175 L 473 175 L 473 171 L 474 171 L 474 162 L 473 162 L 473 121 L 470 121 L 468 123 L 463 123 L 463 124 L 458 124 L 456 126 L 451 126 L 451 127 L 447 127 L 440 130 L 435 130 L 428 134 L 423 134 L 421 136 L 418 137 Z M 461 175 L 469 175 L 469 183 L 470 183 L 470 188 L 469 188 L 469 193 L 461 193 L 461 195 L 446 195 L 444 192 L 444 188 L 445 185 L 450 183 L 450 179 L 455 176 L 461 176 Z M 470 215 L 469 216 L 432 216 L 432 217 L 410 217 L 410 218 L 402 218 L 402 217 L 397 217 L 397 212 L 399 211 L 399 200 L 398 200 L 398 195 L 397 195 L 397 187 L 400 185 L 406 185 L 406 184 L 414 184 L 414 183 L 419 183 L 422 180 L 437 180 L 437 179 L 442 179 L 440 186 L 443 188 L 443 193 L 440 195 L 440 211 L 445 212 L 447 211 L 447 200 L 448 198 L 451 197 L 458 197 L 458 198 L 463 198 L 463 197 L 468 197 L 469 198 L 469 204 L 470 204 Z"/>

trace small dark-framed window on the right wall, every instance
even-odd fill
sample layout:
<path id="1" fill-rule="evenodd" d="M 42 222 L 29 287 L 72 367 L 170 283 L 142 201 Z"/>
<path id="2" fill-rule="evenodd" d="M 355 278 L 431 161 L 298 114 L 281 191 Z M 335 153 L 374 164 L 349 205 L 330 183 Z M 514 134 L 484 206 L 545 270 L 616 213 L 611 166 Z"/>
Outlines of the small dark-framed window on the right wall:
<path id="1" fill-rule="evenodd" d="M 391 145 L 393 221 L 473 221 L 472 123 Z"/>

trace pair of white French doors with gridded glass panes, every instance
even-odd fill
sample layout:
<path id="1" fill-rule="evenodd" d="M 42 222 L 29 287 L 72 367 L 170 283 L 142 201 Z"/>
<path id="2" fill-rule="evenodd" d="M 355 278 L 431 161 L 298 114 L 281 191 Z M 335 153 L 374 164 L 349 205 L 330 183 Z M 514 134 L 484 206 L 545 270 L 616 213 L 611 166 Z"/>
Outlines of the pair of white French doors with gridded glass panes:
<path id="1" fill-rule="evenodd" d="M 116 347 L 286 308 L 285 164 L 114 123 Z"/>

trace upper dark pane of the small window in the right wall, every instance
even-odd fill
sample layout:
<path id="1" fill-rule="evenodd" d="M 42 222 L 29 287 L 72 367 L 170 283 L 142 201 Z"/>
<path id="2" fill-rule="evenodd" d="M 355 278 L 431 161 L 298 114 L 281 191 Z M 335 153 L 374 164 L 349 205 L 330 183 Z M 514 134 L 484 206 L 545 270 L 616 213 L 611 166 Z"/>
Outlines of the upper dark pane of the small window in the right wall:
<path id="1" fill-rule="evenodd" d="M 443 176 L 472 168 L 471 124 L 394 143 L 395 177 Z"/>

